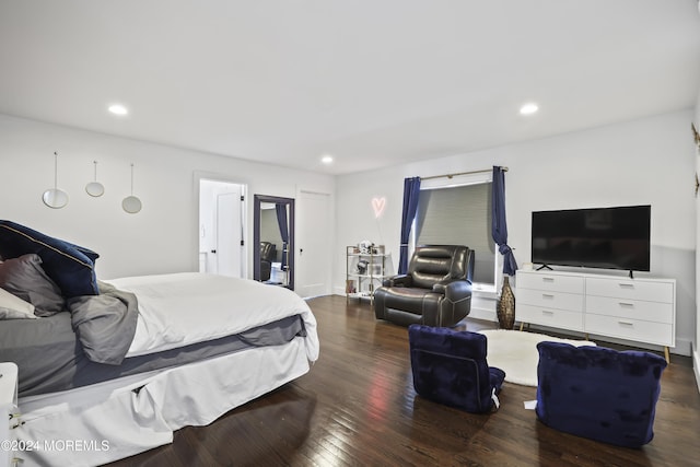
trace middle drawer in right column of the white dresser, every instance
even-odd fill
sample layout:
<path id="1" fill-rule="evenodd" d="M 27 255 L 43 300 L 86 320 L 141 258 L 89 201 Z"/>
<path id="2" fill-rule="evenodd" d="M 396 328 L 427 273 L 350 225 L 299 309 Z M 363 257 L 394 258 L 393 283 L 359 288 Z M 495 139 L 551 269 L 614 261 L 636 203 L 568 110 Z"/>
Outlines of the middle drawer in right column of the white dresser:
<path id="1" fill-rule="evenodd" d="M 674 306 L 670 303 L 590 295 L 586 297 L 586 313 L 654 323 L 674 323 Z"/>

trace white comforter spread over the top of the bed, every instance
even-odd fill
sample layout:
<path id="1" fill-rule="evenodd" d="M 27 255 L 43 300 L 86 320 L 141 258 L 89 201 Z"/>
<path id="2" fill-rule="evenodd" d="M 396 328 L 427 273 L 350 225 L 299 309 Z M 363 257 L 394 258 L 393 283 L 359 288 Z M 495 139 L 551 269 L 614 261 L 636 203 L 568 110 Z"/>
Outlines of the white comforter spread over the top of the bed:
<path id="1" fill-rule="evenodd" d="M 199 272 L 105 281 L 136 294 L 139 319 L 127 357 L 218 339 L 301 315 L 310 361 L 318 358 L 316 318 L 294 292 L 247 279 Z"/>

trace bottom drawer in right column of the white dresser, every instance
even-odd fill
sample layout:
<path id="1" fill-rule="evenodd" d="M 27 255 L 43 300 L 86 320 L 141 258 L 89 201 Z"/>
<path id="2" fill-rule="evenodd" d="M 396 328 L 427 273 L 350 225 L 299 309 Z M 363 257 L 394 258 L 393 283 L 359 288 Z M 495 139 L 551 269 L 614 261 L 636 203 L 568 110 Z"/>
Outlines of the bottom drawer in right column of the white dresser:
<path id="1" fill-rule="evenodd" d="M 594 314 L 587 314 L 585 320 L 586 332 L 666 347 L 674 347 L 676 345 L 672 324 Z"/>

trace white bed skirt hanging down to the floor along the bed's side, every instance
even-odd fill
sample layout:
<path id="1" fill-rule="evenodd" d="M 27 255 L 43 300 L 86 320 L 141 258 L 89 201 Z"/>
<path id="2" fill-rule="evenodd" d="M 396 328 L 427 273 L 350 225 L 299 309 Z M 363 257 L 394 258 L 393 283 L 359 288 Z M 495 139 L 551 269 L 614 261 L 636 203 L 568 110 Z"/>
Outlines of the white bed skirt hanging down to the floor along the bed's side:
<path id="1" fill-rule="evenodd" d="M 13 431 L 21 445 L 33 447 L 18 453 L 21 465 L 97 466 L 172 443 L 173 431 L 209 424 L 307 373 L 306 353 L 296 337 L 130 380 L 117 389 L 57 393 L 33 410 L 20 400 L 24 424 Z"/>

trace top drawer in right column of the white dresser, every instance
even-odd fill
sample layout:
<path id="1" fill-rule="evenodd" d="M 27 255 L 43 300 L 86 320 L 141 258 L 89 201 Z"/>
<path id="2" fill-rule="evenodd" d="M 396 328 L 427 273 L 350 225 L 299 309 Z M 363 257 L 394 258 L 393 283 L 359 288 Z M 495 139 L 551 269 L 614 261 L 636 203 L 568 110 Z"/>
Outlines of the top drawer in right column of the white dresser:
<path id="1" fill-rule="evenodd" d="M 586 294 L 615 296 L 619 299 L 643 300 L 650 302 L 673 303 L 674 283 L 633 279 L 586 279 Z"/>

